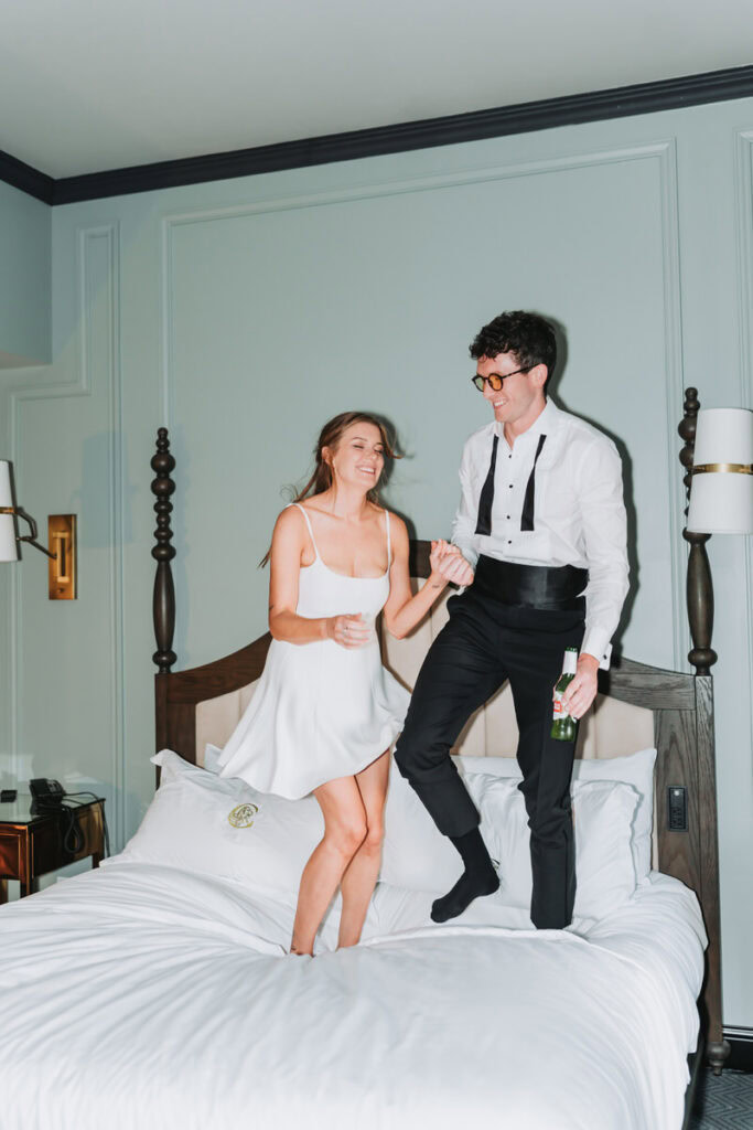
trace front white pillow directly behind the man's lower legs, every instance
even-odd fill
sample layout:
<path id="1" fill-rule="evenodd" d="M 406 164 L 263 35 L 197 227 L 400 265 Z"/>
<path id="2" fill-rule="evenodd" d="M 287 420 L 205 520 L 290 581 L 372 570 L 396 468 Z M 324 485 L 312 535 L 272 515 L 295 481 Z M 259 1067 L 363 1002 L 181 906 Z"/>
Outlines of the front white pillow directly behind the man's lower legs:
<path id="1" fill-rule="evenodd" d="M 531 906 L 531 832 L 523 793 L 514 777 L 469 774 L 481 797 L 481 827 L 491 855 L 500 861 L 499 898 L 506 906 Z M 603 919 L 636 889 L 630 849 L 638 792 L 619 781 L 576 781 L 572 812 L 576 843 L 576 918 Z"/>

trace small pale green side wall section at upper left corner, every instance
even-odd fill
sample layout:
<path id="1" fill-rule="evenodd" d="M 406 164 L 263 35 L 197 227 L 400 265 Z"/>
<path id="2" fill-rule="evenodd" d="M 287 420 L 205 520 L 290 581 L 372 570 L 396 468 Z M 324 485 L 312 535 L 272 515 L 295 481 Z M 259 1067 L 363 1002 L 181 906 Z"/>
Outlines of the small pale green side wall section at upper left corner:
<path id="1" fill-rule="evenodd" d="M 0 181 L 0 368 L 50 360 L 51 215 Z"/>

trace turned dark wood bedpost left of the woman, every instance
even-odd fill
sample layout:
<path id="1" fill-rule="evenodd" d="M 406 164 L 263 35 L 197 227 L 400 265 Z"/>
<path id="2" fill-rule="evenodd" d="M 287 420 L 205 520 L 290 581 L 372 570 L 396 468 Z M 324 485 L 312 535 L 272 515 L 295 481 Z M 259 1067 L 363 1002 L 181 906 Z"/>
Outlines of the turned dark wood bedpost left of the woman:
<path id="1" fill-rule="evenodd" d="M 170 545 L 173 540 L 170 496 L 175 490 L 170 471 L 175 470 L 175 459 L 170 454 L 170 442 L 166 427 L 160 427 L 157 431 L 157 453 L 151 458 L 151 469 L 157 476 L 151 483 L 151 493 L 157 498 L 155 503 L 155 513 L 157 514 L 156 545 L 151 549 L 151 556 L 157 562 L 152 601 L 157 651 L 151 658 L 157 664 L 159 673 L 166 675 L 177 659 L 173 651 L 175 588 L 170 568 L 170 562 L 175 557 L 175 547 Z"/>

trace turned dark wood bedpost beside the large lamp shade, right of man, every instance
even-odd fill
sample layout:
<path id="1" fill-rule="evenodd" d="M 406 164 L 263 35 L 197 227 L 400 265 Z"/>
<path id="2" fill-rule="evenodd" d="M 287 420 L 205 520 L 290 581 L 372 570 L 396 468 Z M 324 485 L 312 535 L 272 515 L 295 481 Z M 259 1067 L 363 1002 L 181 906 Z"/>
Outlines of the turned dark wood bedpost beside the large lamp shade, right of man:
<path id="1" fill-rule="evenodd" d="M 698 389 L 685 389 L 683 418 L 677 427 L 680 437 L 685 441 L 685 445 L 680 452 L 680 462 L 685 469 L 683 478 L 685 485 L 685 520 L 688 519 L 690 488 L 693 481 L 692 468 L 695 450 L 695 426 L 698 424 L 700 407 Z M 711 646 L 711 633 L 713 631 L 713 584 L 711 582 L 711 566 L 706 553 L 706 542 L 711 534 L 692 533 L 685 528 L 682 531 L 682 536 L 690 545 L 686 596 L 688 619 L 690 621 L 690 634 L 693 646 L 688 653 L 688 661 L 695 668 L 697 675 L 710 675 L 711 667 L 718 658 Z"/>

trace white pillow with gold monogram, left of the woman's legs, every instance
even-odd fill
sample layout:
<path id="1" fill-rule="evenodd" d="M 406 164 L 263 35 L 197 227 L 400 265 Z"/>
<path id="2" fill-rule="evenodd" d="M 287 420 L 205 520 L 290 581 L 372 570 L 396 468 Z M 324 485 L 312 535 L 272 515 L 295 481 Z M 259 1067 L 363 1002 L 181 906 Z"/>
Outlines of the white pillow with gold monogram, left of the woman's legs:
<path id="1" fill-rule="evenodd" d="M 191 765 L 169 749 L 151 760 L 161 767 L 159 789 L 120 859 L 235 879 L 280 898 L 298 897 L 300 873 L 324 832 L 314 797 L 266 796 Z"/>

